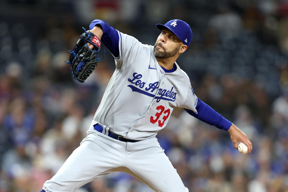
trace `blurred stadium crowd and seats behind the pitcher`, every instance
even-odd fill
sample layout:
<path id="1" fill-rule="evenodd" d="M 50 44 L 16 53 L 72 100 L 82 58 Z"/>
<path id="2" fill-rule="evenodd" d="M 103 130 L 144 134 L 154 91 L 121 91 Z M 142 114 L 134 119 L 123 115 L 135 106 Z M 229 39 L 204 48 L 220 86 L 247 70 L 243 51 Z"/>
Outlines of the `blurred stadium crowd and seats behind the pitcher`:
<path id="1" fill-rule="evenodd" d="M 253 143 L 242 155 L 226 131 L 175 109 L 157 137 L 183 182 L 194 192 L 287 192 L 287 0 L 1 0 L 0 192 L 39 192 L 86 135 L 115 65 L 107 52 L 84 84 L 72 78 L 64 60 L 81 27 L 103 19 L 154 45 L 155 25 L 175 18 L 192 28 L 177 62 L 196 95 Z M 77 191 L 151 189 L 112 173 Z"/>

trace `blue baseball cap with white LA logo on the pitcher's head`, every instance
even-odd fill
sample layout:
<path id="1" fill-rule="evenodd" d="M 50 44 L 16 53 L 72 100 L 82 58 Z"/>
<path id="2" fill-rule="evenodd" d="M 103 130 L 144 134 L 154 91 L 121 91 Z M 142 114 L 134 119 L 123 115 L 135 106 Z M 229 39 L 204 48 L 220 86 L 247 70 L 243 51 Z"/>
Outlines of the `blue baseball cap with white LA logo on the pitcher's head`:
<path id="1" fill-rule="evenodd" d="M 162 29 L 169 29 L 183 42 L 184 45 L 189 46 L 191 43 L 192 31 L 185 21 L 173 19 L 168 21 L 165 25 L 157 24 L 156 27 L 161 31 Z"/>

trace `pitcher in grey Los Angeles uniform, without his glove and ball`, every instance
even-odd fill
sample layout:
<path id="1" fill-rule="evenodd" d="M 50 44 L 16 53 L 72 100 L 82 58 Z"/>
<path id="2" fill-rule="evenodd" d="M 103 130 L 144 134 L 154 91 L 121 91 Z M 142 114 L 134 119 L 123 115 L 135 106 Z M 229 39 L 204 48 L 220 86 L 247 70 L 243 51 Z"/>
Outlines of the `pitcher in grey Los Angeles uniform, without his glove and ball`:
<path id="1" fill-rule="evenodd" d="M 161 33 L 151 46 L 102 20 L 91 22 L 90 32 L 108 47 L 116 70 L 87 137 L 44 183 L 42 192 L 72 192 L 115 171 L 129 173 L 155 191 L 188 191 L 155 137 L 174 107 L 228 131 L 236 149 L 238 142 L 243 142 L 251 152 L 247 136 L 197 98 L 189 77 L 176 63 L 191 42 L 190 26 L 173 19 L 156 27 Z M 92 49 L 95 44 L 87 46 Z"/>

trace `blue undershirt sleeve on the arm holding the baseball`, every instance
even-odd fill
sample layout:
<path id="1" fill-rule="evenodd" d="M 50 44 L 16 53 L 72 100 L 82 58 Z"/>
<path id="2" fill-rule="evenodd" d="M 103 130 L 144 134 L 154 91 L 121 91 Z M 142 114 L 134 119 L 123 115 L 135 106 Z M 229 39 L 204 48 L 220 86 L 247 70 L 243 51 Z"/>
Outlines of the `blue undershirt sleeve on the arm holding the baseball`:
<path id="1" fill-rule="evenodd" d="M 196 117 L 197 119 L 208 123 L 209 125 L 213 125 L 219 129 L 223 129 L 228 131 L 231 127 L 232 123 L 217 113 L 214 109 L 212 109 L 209 105 L 205 104 L 198 98 L 198 102 L 196 105 L 197 114 L 194 113 L 192 110 L 185 109 L 184 110 Z"/>

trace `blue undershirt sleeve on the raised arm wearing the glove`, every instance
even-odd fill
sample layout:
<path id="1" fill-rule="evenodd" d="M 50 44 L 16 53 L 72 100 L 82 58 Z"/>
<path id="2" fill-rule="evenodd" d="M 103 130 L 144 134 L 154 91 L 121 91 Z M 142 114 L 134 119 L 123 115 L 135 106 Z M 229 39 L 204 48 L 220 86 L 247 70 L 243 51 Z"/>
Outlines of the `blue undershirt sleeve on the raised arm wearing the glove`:
<path id="1" fill-rule="evenodd" d="M 100 19 L 93 20 L 89 26 L 89 30 L 93 29 L 95 25 L 101 26 L 103 31 L 101 41 L 104 43 L 105 46 L 107 46 L 107 48 L 113 54 L 113 56 L 117 58 L 119 56 L 118 31 L 113 27 L 109 26 L 107 22 Z"/>

